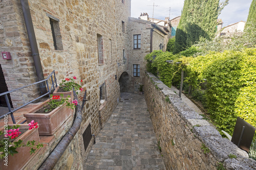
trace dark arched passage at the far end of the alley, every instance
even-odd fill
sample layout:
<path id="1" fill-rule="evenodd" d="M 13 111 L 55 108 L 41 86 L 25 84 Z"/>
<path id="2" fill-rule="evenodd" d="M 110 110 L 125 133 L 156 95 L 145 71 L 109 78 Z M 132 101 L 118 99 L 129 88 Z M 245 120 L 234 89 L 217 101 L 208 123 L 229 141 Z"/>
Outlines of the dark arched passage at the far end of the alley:
<path id="1" fill-rule="evenodd" d="M 120 92 L 132 92 L 132 78 L 127 74 L 127 72 L 123 72 L 120 76 L 119 80 Z"/>

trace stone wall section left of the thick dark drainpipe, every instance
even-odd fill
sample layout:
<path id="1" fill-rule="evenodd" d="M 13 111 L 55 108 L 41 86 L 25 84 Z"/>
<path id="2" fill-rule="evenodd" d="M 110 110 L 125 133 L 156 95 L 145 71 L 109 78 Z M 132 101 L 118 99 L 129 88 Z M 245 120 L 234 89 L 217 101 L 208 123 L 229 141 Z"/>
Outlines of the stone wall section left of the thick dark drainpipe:
<path id="1" fill-rule="evenodd" d="M 29 41 L 19 1 L 0 1 L 0 51 L 10 52 L 12 59 L 0 57 L 8 90 L 13 90 L 37 81 Z M 39 95 L 37 86 L 11 93 L 14 108 Z"/>

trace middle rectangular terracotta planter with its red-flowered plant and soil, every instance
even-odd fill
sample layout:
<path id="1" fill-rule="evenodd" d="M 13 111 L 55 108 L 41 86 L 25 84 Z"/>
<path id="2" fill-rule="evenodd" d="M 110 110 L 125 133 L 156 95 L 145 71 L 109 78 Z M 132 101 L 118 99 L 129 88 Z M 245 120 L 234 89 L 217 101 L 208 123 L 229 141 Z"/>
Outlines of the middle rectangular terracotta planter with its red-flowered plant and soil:
<path id="1" fill-rule="evenodd" d="M 60 96 L 62 98 L 60 98 Z M 40 125 L 39 135 L 53 135 L 58 128 L 71 116 L 77 101 L 61 95 L 51 95 L 51 99 L 25 113 L 27 121 L 36 120 Z"/>

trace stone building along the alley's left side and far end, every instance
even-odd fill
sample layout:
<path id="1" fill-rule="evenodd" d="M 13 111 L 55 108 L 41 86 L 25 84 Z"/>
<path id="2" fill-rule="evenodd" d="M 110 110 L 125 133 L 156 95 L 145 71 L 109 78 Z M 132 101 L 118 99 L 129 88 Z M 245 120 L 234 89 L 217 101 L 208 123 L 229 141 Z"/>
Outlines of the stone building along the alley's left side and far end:
<path id="1" fill-rule="evenodd" d="M 131 0 L 26 1 L 0 0 L 0 51 L 10 52 L 11 56 L 9 60 L 0 58 L 0 89 L 10 91 L 26 86 L 47 78 L 53 70 L 58 84 L 76 76 L 83 87 L 78 99 L 87 90 L 88 102 L 82 110 L 81 128 L 70 145 L 73 152 L 66 152 L 59 164 L 67 164 L 72 158 L 70 167 L 79 169 L 82 165 L 77 162 L 90 149 L 80 151 L 74 145 L 82 147 L 82 134 L 89 125 L 92 134 L 99 133 L 120 101 L 120 91 L 139 91 L 145 71 L 144 56 L 165 49 L 167 33 L 154 22 L 131 18 Z M 34 43 L 28 38 L 33 33 L 26 26 L 23 8 L 31 13 Z M 37 46 L 38 54 L 32 52 L 32 46 Z M 33 56 L 41 63 L 39 72 Z M 43 88 L 30 86 L 12 92 L 9 100 L 17 108 L 39 96 L 39 89 Z M 4 102 L 1 100 L 3 106 Z M 88 148 L 92 143 L 93 140 Z M 44 152 L 44 156 L 33 160 L 37 163 L 31 169 L 38 168 L 50 154 L 48 149 Z"/>

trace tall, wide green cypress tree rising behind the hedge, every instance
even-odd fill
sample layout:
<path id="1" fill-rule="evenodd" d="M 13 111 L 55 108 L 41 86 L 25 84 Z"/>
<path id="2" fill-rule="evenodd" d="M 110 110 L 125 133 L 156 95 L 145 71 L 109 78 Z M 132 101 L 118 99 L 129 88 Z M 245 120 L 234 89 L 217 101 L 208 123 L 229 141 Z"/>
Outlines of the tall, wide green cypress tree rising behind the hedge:
<path id="1" fill-rule="evenodd" d="M 214 38 L 219 12 L 219 0 L 185 0 L 176 31 L 174 54 L 196 41 Z"/>

